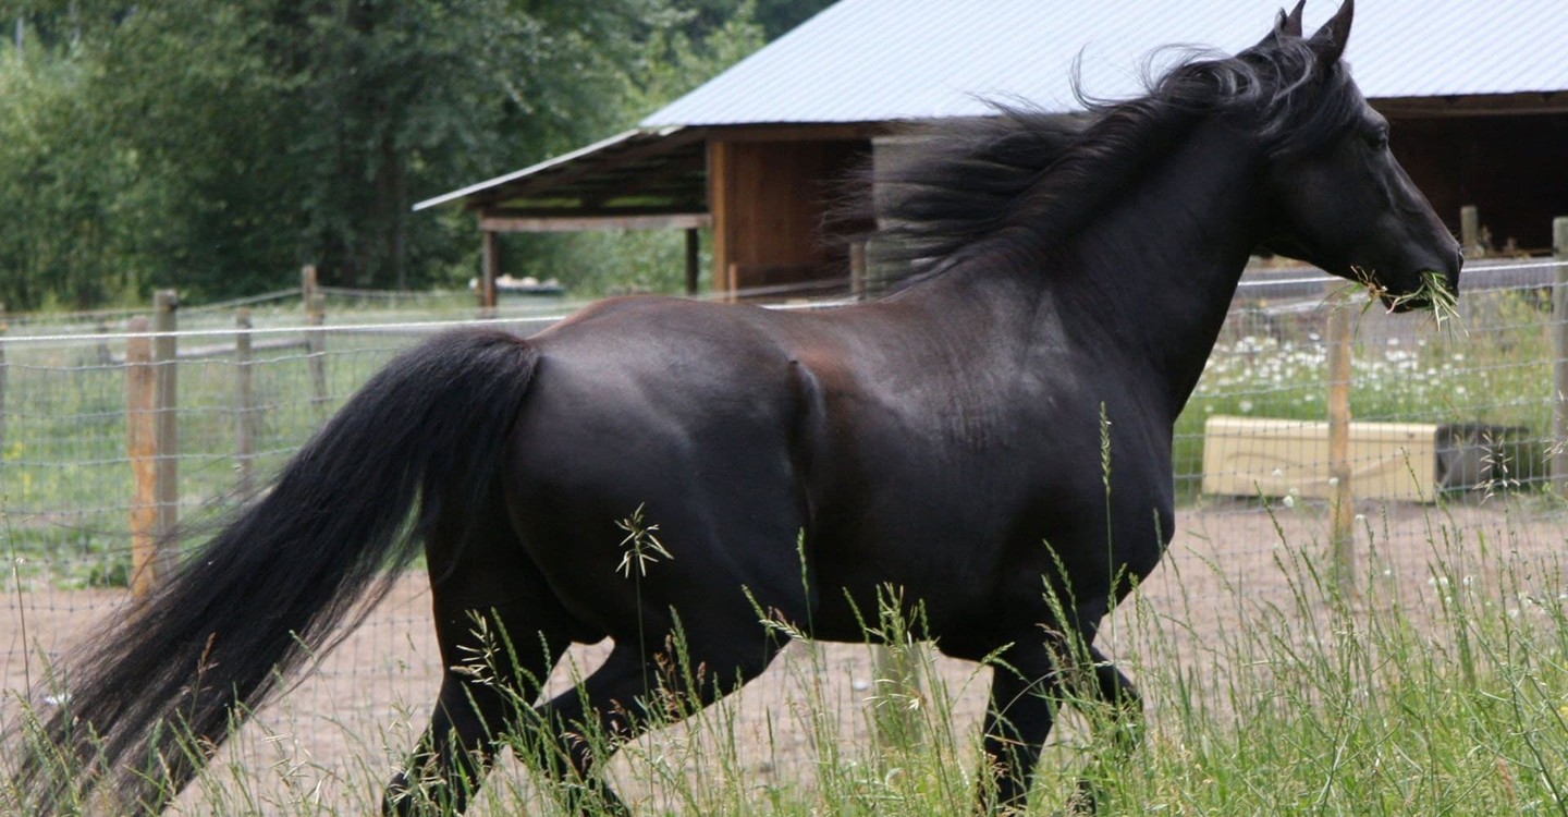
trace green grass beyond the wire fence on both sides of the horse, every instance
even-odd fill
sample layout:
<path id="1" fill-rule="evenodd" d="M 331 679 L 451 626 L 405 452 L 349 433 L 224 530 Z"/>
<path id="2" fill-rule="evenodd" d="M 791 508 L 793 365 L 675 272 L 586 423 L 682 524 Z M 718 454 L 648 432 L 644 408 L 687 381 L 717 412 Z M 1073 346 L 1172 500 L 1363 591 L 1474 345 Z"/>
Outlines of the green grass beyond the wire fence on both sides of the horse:
<path id="1" fill-rule="evenodd" d="M 505 306 L 503 314 L 521 314 Z M 563 314 L 546 303 L 535 312 Z M 1355 307 L 1352 307 L 1355 309 Z M 1538 293 L 1466 296 L 1466 317 L 1439 326 L 1430 315 L 1383 315 L 1356 309 L 1358 348 L 1352 406 L 1358 420 L 1486 422 L 1527 433 L 1512 463 L 1524 486 L 1541 474 L 1551 428 L 1549 312 Z M 296 326 L 298 306 L 257 307 L 256 326 Z M 370 325 L 456 320 L 474 315 L 470 295 L 431 295 L 381 303 L 334 298 L 328 323 Z M 116 326 L 121 318 L 114 318 Z M 1381 339 L 1383 323 L 1416 325 L 1413 336 Z M 182 329 L 232 328 L 227 312 L 185 310 Z M 0 510 L 11 546 L 28 558 L 24 579 L 61 586 L 124 576 L 132 502 L 125 453 L 125 383 L 118 364 L 100 362 L 97 342 L 28 343 L 28 334 L 83 334 L 89 325 L 17 323 L 6 343 L 5 431 L 0 438 Z M 1232 315 L 1187 411 L 1176 423 L 1174 466 L 1184 502 L 1198 499 L 1203 423 L 1214 414 L 1325 419 L 1322 314 Z M 265 336 L 274 339 L 279 336 Z M 295 336 L 287 336 L 295 337 Z M 262 336 L 257 340 L 263 340 Z M 190 345 L 227 343 L 229 336 Z M 328 398 L 312 401 L 309 365 L 299 350 L 259 351 L 256 376 L 256 470 L 265 475 L 412 337 L 343 336 L 328 340 Z M 105 343 L 122 354 L 124 342 Z M 185 514 L 221 499 L 237 481 L 235 379 L 230 359 L 180 365 L 180 497 Z"/>

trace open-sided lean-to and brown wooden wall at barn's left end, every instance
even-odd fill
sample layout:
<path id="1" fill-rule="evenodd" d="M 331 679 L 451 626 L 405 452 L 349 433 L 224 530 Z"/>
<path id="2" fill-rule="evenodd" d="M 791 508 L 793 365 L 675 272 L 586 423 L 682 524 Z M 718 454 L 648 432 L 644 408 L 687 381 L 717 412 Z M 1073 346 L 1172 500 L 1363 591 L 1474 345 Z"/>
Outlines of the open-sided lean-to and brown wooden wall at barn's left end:
<path id="1" fill-rule="evenodd" d="M 883 130 L 886 124 L 872 122 L 633 129 L 414 210 L 461 205 L 474 213 L 488 306 L 495 303 L 505 232 L 682 229 L 687 290 L 695 293 L 699 231 L 712 227 L 715 289 L 757 289 L 768 276 L 842 267 L 808 234 L 823 221 L 829 185 Z"/>

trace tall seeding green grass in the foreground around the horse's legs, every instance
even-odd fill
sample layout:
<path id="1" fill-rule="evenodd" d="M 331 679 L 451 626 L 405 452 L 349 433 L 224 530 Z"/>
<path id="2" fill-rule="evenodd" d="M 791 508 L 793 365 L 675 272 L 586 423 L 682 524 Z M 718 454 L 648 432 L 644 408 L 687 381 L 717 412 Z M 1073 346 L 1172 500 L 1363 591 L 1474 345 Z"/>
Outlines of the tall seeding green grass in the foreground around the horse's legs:
<path id="1" fill-rule="evenodd" d="M 1088 776 L 1109 814 L 1568 814 L 1560 560 L 1510 541 L 1507 530 L 1461 528 L 1433 508 L 1424 543 L 1397 543 L 1405 565 L 1411 547 L 1424 550 L 1427 580 L 1410 582 L 1392 569 L 1396 543 L 1375 527 L 1363 532 L 1369 555 L 1348 593 L 1320 569 L 1309 543 L 1279 543 L 1284 590 L 1272 596 L 1225 582 L 1220 565 L 1182 560 L 1157 574 L 1160 596 L 1184 601 L 1159 610 L 1135 594 L 1105 630 L 1148 699 L 1143 740 L 1124 762 L 1096 762 L 1115 756 L 1115 731 L 1096 704 L 1066 701 L 1091 715 L 1060 724 L 1030 812 L 1058 812 Z M 1225 590 L 1184 597 L 1189 585 L 1215 586 L 1195 580 L 1204 571 L 1221 571 Z M 638 814 L 969 814 L 982 757 L 963 701 L 975 698 L 988 670 L 939 670 L 913 649 L 917 624 L 894 613 L 902 601 L 887 601 L 867 627 L 908 659 L 883 666 L 908 673 L 913 662 L 920 684 L 875 677 L 845 698 L 825 681 L 833 671 L 822 646 L 792 646 L 787 707 L 759 715 L 742 692 L 681 724 L 665 721 L 688 707 L 659 707 L 654 734 L 610 765 L 615 786 Z M 572 677 L 580 668 L 566 688 Z M 903 723 L 892 732 L 887 707 Z M 265 712 L 260 720 L 265 726 Z M 246 750 L 249 757 L 220 759 L 179 812 L 372 812 L 383 778 L 422 728 L 414 720 L 356 737 L 347 767 L 315 768 L 326 761 L 262 740 L 265 750 Z M 588 737 L 608 751 L 602 735 Z M 538 751 L 532 739 L 517 740 L 519 756 Z M 472 814 L 577 808 L 608 814 L 503 764 Z M 0 812 L 13 814 L 3 798 Z"/>

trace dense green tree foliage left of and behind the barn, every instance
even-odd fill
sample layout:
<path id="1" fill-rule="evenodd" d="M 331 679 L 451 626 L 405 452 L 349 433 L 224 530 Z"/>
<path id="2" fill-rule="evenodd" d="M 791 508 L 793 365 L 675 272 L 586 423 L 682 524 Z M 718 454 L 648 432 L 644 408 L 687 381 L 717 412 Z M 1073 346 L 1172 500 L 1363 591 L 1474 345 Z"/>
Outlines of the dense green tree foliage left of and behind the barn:
<path id="1" fill-rule="evenodd" d="M 753 14 L 735 0 L 8 9 L 0 301 L 89 307 L 177 287 L 193 303 L 292 285 L 301 263 L 339 285 L 463 282 L 472 218 L 412 202 L 633 124 L 760 45 Z M 677 259 L 677 241 L 513 254 L 593 292 L 618 276 L 665 289 L 641 259 Z"/>

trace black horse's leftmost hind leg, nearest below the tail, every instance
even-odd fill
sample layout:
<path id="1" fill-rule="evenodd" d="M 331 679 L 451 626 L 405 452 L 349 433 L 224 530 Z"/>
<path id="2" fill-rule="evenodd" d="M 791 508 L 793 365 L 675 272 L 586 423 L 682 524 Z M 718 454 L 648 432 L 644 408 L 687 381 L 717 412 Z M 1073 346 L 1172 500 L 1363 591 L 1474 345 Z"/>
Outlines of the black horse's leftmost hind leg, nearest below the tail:
<path id="1" fill-rule="evenodd" d="M 387 786 L 386 814 L 461 814 L 569 645 L 560 602 L 505 517 L 486 516 L 461 535 L 431 536 L 441 693 L 408 767 Z"/>

